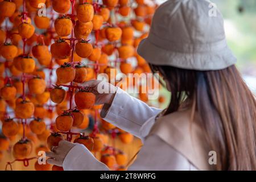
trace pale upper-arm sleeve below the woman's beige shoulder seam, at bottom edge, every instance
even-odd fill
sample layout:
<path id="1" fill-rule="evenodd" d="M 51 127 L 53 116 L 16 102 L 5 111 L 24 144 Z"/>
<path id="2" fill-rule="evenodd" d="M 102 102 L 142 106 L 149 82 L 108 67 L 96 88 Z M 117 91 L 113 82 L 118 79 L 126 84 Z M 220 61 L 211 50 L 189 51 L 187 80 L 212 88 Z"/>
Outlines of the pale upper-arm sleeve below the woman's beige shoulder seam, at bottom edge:
<path id="1" fill-rule="evenodd" d="M 197 170 L 187 158 L 156 135 L 144 141 L 137 159 L 129 171 L 190 171 Z"/>

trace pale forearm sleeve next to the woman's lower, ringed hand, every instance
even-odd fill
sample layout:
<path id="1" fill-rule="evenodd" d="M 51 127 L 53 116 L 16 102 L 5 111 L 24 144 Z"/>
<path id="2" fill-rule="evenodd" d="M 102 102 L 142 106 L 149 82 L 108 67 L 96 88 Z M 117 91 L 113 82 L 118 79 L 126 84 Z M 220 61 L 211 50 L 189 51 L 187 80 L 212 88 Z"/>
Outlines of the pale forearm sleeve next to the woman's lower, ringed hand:
<path id="1" fill-rule="evenodd" d="M 64 171 L 109 171 L 109 168 L 98 161 L 82 144 L 76 144 L 63 161 Z"/>

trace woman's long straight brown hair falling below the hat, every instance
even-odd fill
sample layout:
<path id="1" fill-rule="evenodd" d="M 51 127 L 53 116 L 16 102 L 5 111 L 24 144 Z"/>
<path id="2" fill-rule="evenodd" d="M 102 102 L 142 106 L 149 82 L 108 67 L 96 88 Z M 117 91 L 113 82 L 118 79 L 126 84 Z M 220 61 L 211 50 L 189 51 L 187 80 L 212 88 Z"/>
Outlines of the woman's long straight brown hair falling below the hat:
<path id="1" fill-rule="evenodd" d="M 218 71 L 150 67 L 170 85 L 165 115 L 184 101 L 195 105 L 195 122 L 217 152 L 217 170 L 256 170 L 256 101 L 234 65 Z"/>

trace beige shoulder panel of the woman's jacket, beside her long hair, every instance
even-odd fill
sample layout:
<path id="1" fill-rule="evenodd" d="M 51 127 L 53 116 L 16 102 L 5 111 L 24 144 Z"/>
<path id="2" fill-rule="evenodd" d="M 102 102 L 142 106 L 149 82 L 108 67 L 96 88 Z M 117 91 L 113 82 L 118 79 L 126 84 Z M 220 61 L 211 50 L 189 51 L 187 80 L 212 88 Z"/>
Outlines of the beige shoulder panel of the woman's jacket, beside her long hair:
<path id="1" fill-rule="evenodd" d="M 185 156 L 197 168 L 210 169 L 204 132 L 195 122 L 191 109 L 159 117 L 147 137 L 157 135 Z"/>

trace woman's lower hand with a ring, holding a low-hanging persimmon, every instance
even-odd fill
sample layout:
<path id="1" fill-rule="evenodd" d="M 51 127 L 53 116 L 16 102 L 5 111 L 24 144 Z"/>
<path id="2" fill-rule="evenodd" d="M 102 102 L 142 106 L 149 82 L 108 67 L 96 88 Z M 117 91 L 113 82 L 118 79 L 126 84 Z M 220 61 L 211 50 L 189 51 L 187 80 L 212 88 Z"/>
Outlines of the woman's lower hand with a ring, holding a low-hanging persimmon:
<path id="1" fill-rule="evenodd" d="M 75 143 L 61 140 L 59 142 L 59 146 L 51 148 L 52 152 L 46 152 L 46 156 L 49 157 L 49 159 L 47 159 L 47 163 L 62 167 L 63 161 L 68 155 L 68 152 L 75 146 Z"/>

